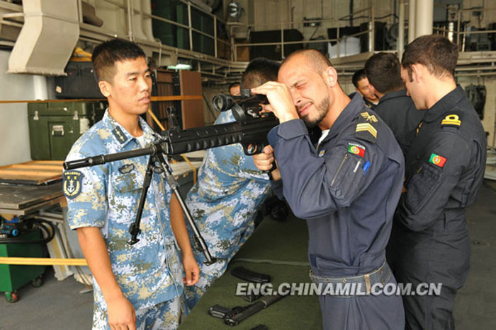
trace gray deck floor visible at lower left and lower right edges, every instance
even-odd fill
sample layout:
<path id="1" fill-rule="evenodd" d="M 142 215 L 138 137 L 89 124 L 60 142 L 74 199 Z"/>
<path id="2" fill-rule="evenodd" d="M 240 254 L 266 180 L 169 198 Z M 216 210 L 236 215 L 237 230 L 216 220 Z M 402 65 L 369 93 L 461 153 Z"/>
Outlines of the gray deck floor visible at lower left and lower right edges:
<path id="1" fill-rule="evenodd" d="M 496 182 L 486 181 L 478 200 L 468 210 L 472 269 L 456 298 L 457 329 L 496 329 Z M 93 295 L 80 294 L 84 286 L 67 278 L 57 281 L 52 269 L 40 288 L 25 285 L 20 299 L 0 299 L 0 329 L 91 329 Z M 239 328 L 242 329 L 242 328 Z"/>

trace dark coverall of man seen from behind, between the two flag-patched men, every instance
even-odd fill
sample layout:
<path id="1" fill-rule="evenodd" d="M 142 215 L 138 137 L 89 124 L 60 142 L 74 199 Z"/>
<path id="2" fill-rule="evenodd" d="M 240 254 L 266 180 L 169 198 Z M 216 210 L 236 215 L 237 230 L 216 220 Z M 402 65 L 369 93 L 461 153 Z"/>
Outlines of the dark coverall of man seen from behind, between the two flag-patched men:
<path id="1" fill-rule="evenodd" d="M 417 110 L 406 90 L 396 90 L 385 93 L 373 111 L 388 124 L 406 156 L 425 110 Z"/>

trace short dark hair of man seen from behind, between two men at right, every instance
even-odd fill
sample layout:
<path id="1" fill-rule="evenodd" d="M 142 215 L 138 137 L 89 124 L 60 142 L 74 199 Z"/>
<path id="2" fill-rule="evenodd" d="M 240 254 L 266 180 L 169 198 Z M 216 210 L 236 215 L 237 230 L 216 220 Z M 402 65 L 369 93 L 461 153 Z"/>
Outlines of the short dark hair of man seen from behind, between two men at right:
<path id="1" fill-rule="evenodd" d="M 368 82 L 379 93 L 390 93 L 403 88 L 400 60 L 395 54 L 373 54 L 365 63 Z"/>

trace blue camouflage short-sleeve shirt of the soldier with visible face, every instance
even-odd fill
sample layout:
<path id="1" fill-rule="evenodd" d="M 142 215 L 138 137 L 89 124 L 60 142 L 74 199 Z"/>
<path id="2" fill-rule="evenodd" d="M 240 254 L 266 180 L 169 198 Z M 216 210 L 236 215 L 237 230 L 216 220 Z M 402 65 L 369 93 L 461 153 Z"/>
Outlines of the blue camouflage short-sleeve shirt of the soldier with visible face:
<path id="1" fill-rule="evenodd" d="M 141 118 L 140 125 L 148 146 L 154 142 L 154 133 Z M 137 139 L 107 110 L 103 119 L 74 143 L 67 160 L 137 148 Z M 169 221 L 171 189 L 158 173 L 153 174 L 147 192 L 137 237 L 140 241 L 127 243 L 149 157 L 64 171 L 69 227 L 100 228 L 115 278 L 136 309 L 171 300 L 182 292 L 182 267 Z M 96 302 L 104 304 L 98 285 L 95 289 Z"/>

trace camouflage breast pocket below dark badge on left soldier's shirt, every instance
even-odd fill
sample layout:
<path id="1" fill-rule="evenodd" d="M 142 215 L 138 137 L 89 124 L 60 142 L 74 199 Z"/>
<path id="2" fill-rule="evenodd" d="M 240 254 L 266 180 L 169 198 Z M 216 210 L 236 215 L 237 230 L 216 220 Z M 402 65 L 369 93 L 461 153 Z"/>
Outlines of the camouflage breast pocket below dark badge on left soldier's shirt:
<path id="1" fill-rule="evenodd" d="M 109 207 L 117 223 L 131 223 L 135 220 L 137 205 L 142 190 L 142 179 L 135 172 L 114 175 L 111 179 Z"/>

